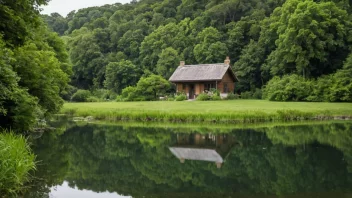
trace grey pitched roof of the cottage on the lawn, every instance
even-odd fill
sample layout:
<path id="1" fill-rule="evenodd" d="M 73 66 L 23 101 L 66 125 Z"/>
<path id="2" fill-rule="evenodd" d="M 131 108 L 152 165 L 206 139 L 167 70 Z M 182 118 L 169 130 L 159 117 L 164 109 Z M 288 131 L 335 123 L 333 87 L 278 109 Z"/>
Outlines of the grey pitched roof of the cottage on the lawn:
<path id="1" fill-rule="evenodd" d="M 169 81 L 220 81 L 227 71 L 229 71 L 235 81 L 238 81 L 230 65 L 224 63 L 179 66 Z"/>

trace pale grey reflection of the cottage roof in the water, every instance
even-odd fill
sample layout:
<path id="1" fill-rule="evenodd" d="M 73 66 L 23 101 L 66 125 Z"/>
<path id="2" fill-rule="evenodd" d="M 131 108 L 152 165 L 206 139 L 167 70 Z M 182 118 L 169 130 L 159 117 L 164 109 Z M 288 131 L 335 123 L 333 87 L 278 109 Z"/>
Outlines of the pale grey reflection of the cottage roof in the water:
<path id="1" fill-rule="evenodd" d="M 224 160 L 214 149 L 170 147 L 172 154 L 179 159 L 220 162 Z"/>

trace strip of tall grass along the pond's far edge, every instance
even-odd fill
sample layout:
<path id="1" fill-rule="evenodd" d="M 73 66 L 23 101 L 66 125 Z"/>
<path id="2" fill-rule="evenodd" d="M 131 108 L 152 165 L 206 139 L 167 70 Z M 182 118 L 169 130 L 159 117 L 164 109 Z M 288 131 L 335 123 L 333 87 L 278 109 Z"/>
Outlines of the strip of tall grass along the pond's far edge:
<path id="1" fill-rule="evenodd" d="M 164 111 L 99 111 L 92 109 L 67 109 L 71 116 L 93 116 L 97 120 L 108 121 L 156 121 L 156 122 L 211 122 L 211 123 L 255 123 L 271 121 L 328 120 L 333 115 L 328 112 L 302 112 L 298 110 L 278 110 L 276 112 L 247 111 L 233 113 L 189 113 Z"/>

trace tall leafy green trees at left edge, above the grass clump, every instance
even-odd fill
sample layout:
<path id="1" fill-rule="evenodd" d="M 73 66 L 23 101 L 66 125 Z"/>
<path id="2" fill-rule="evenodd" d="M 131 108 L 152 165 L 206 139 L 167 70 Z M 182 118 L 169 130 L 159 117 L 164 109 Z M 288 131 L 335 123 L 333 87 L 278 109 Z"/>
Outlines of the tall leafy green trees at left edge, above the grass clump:
<path id="1" fill-rule="evenodd" d="M 64 42 L 40 18 L 46 3 L 1 1 L 0 127 L 31 129 L 63 105 L 72 71 Z"/>

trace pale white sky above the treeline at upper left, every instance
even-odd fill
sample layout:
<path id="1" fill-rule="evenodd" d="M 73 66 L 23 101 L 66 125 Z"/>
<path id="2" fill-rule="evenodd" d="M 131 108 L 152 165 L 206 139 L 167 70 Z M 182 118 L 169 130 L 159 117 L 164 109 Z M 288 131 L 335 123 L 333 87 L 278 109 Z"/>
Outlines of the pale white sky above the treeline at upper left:
<path id="1" fill-rule="evenodd" d="M 131 0 L 51 0 L 47 6 L 43 6 L 42 14 L 51 14 L 57 12 L 66 16 L 72 10 L 79 10 L 92 6 L 102 6 L 114 3 L 129 3 Z"/>

